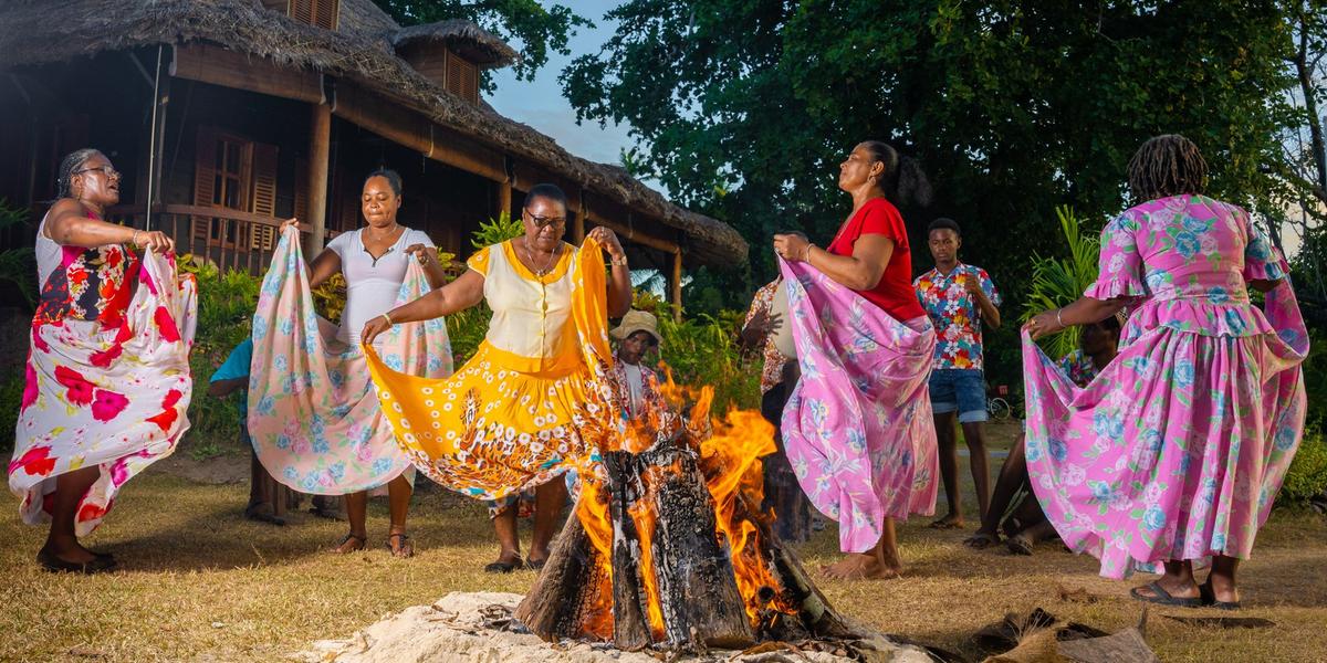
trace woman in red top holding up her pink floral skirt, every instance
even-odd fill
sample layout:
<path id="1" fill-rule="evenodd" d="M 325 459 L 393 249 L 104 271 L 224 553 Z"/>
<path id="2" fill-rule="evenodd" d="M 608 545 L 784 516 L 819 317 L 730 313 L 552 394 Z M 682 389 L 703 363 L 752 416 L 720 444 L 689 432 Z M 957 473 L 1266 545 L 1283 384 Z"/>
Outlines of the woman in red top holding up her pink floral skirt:
<path id="1" fill-rule="evenodd" d="M 852 195 L 852 213 L 827 248 L 774 237 L 804 363 L 783 436 L 790 457 L 800 455 L 794 467 L 803 489 L 839 521 L 847 556 L 824 572 L 892 578 L 902 569 L 894 518 L 936 505 L 925 386 L 936 333 L 912 288 L 908 232 L 893 204 L 926 204 L 930 187 L 914 160 L 868 141 L 839 166 L 839 188 Z"/>

